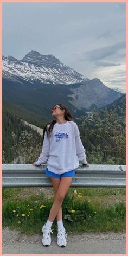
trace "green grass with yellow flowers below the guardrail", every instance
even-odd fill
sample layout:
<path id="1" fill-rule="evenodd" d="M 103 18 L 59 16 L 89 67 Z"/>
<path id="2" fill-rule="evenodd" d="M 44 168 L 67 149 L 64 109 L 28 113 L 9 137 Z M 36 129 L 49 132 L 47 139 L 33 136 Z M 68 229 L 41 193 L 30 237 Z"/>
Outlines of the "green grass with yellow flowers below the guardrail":
<path id="1" fill-rule="evenodd" d="M 74 190 L 77 190 L 75 195 Z M 3 227 L 17 229 L 28 235 L 40 234 L 42 225 L 48 219 L 52 203 L 53 195 L 49 199 L 49 196 L 43 193 L 30 193 L 29 188 L 3 188 Z M 44 207 L 40 208 L 41 205 Z M 73 209 L 75 213 L 71 213 Z M 125 189 L 70 188 L 68 196 L 63 201 L 62 212 L 67 232 L 76 234 L 124 231 Z M 18 224 L 18 221 L 21 223 Z M 52 228 L 56 233 L 56 221 L 53 222 Z"/>

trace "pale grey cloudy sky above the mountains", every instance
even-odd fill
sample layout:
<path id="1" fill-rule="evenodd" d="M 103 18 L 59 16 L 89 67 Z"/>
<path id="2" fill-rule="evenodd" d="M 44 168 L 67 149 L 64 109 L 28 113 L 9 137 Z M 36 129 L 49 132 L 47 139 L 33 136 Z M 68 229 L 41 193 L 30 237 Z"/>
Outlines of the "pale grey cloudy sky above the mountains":
<path id="1" fill-rule="evenodd" d="M 125 92 L 125 3 L 3 3 L 3 55 L 52 54 Z"/>

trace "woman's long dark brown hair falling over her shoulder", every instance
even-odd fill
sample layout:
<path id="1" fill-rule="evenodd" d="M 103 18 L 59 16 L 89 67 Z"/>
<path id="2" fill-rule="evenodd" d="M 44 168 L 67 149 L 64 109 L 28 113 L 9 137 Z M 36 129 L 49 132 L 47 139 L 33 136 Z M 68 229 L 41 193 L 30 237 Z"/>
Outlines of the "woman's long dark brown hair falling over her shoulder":
<path id="1" fill-rule="evenodd" d="M 66 106 L 64 106 L 61 103 L 56 104 L 56 105 L 59 105 L 61 107 L 61 110 L 65 110 L 64 118 L 66 121 L 74 121 L 73 117 L 71 116 L 71 113 L 69 112 L 69 110 Z M 47 127 L 48 124 L 50 124 L 49 128 Z M 50 137 L 50 133 L 52 132 L 53 127 L 56 124 L 56 120 L 53 120 L 53 121 L 49 122 L 48 124 L 43 129 L 43 139 L 44 139 L 45 131 L 47 131 L 47 136 Z"/>

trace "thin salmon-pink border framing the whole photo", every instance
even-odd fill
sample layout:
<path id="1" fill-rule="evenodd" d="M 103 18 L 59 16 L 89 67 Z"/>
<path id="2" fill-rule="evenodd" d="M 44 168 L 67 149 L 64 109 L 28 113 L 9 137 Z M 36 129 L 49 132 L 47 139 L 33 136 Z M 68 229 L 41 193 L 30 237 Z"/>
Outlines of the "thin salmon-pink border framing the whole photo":
<path id="1" fill-rule="evenodd" d="M 56 1 L 54 1 L 54 0 L 47 0 L 47 1 L 43 1 L 43 0 L 31 0 L 31 1 L 26 1 L 26 0 L 12 0 L 12 1 L 9 1 L 9 0 L 3 0 L 3 1 L 1 1 L 0 0 L 0 18 L 1 18 L 1 22 L 0 22 L 0 26 L 1 26 L 1 34 L 0 34 L 0 40 L 1 40 L 1 48 L 0 48 L 0 55 L 1 55 L 1 61 L 0 61 L 0 79 L 1 79 L 1 101 L 0 101 L 0 106 L 1 106 L 1 114 L 0 114 L 0 118 L 1 118 L 1 124 L 2 124 L 2 3 L 14 3 L 14 2 L 18 2 L 18 3 L 20 3 L 20 2 L 30 2 L 30 3 L 32 3 L 32 2 L 63 2 L 63 3 L 67 3 L 67 2 L 110 2 L 110 3 L 112 3 L 112 2 L 124 2 L 124 3 L 126 3 L 126 24 L 127 24 L 127 16 L 128 16 L 128 11 L 127 11 L 127 0 L 106 0 L 106 1 L 104 1 L 104 0 L 99 0 L 99 1 L 97 1 L 97 0 L 88 0 L 88 1 L 86 1 L 86 0 L 80 0 L 80 1 L 78 1 L 78 0 L 56 0 Z M 126 27 L 126 31 L 127 31 L 127 27 Z M 127 46 L 127 33 L 126 33 L 126 46 Z M 126 84 L 127 84 L 127 47 L 126 47 Z M 126 87 L 126 167 L 127 167 L 127 158 L 128 158 L 128 153 L 127 153 L 127 87 Z M 1 140 L 0 140 L 0 145 L 2 145 L 2 125 L 1 125 L 1 131 L 0 131 L 0 134 L 1 134 Z M 2 147 L 1 147 L 1 180 L 0 180 L 0 182 L 1 182 L 1 195 L 2 195 Z M 128 183 L 128 181 L 127 181 L 127 174 L 126 174 L 126 184 Z M 126 202 L 127 202 L 127 185 L 126 185 Z M 10 255 L 10 254 L 2 254 L 2 196 L 1 196 L 1 204 L 0 204 L 0 211 L 1 211 L 1 219 L 0 219 L 0 227 L 1 227 L 1 229 L 0 229 L 0 234 L 1 234 L 1 240 L 0 240 L 0 255 L 5 255 L 5 256 L 7 256 L 7 255 Z M 127 204 L 126 204 L 126 213 L 127 213 Z M 107 255 L 119 255 L 119 256 L 121 256 L 121 255 L 127 255 L 127 245 L 128 245 L 128 241 L 127 241 L 127 227 L 128 227 L 128 223 L 127 223 L 127 214 L 126 214 L 126 254 L 100 254 L 100 255 L 105 255 L 105 256 L 107 256 Z M 14 254 L 13 254 L 14 255 Z M 30 256 L 30 254 L 15 254 L 15 255 L 18 255 L 18 256 L 20 256 L 20 255 L 28 255 L 28 256 Z M 37 256 L 37 255 L 41 255 L 41 254 L 33 254 L 33 256 Z M 43 255 L 47 255 L 47 256 L 50 256 L 50 255 L 58 255 L 58 256 L 60 256 L 60 255 L 62 255 L 62 254 L 43 254 Z M 76 256 L 79 256 L 79 255 L 83 255 L 83 256 L 85 256 L 85 255 L 88 255 L 88 254 L 63 254 L 63 255 L 66 255 L 66 256 L 68 256 L 68 255 L 76 255 Z M 99 254 L 89 254 L 90 256 L 91 255 L 96 255 L 96 256 L 98 256 Z"/>

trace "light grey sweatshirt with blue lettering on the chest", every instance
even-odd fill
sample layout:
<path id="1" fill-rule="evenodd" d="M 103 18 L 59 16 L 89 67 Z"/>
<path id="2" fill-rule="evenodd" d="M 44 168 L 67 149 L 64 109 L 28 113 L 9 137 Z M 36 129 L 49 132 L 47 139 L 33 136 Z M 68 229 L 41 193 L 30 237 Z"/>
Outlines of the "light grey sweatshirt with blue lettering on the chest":
<path id="1" fill-rule="evenodd" d="M 36 164 L 47 163 L 49 171 L 63 174 L 78 168 L 79 160 L 87 163 L 77 124 L 74 121 L 55 123 L 51 137 L 48 138 L 47 132 L 44 134 L 42 152 Z"/>

